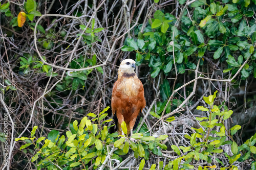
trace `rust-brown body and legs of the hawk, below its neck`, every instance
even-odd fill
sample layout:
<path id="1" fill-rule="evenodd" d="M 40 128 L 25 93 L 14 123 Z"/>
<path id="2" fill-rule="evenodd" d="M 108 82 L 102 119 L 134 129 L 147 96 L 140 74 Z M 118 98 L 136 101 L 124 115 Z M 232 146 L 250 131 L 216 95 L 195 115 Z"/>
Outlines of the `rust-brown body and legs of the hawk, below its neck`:
<path id="1" fill-rule="evenodd" d="M 126 79 L 125 79 L 126 80 Z M 122 87 L 125 84 L 129 84 L 127 82 L 123 82 L 124 80 L 119 79 L 115 82 L 113 91 L 112 91 L 112 99 L 111 106 L 112 112 L 114 116 L 117 117 L 116 125 L 118 128 L 118 133 L 121 134 L 121 126 L 120 124 L 125 121 L 127 125 L 127 131 L 130 133 L 130 129 L 134 128 L 136 118 L 139 112 L 145 107 L 146 102 L 144 98 L 144 88 L 141 81 L 136 77 L 133 80 L 126 81 L 134 81 L 136 87 L 123 89 Z M 136 95 L 128 96 L 126 95 L 127 90 L 136 90 Z M 125 93 L 126 91 L 126 93 Z M 133 93 L 134 94 L 134 93 Z"/>

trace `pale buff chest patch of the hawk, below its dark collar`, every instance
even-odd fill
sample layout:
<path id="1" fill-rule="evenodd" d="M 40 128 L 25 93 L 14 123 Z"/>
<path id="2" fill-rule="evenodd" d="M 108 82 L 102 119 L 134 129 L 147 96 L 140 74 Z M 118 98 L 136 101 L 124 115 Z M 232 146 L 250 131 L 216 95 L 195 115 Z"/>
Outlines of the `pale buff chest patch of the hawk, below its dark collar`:
<path id="1" fill-rule="evenodd" d="M 136 96 L 138 94 L 138 90 L 140 88 L 140 84 L 138 80 L 133 78 L 127 78 L 121 80 L 118 90 L 120 90 L 123 94 L 131 96 Z"/>

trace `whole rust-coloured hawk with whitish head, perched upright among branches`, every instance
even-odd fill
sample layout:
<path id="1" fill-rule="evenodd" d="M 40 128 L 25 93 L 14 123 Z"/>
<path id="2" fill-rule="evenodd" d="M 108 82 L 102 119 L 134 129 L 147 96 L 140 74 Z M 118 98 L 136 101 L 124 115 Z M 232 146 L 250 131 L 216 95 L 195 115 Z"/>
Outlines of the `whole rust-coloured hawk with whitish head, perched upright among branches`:
<path id="1" fill-rule="evenodd" d="M 124 121 L 127 134 L 133 134 L 139 124 L 139 113 L 145 107 L 144 88 L 134 72 L 135 61 L 125 59 L 118 69 L 118 79 L 112 91 L 111 106 L 119 135 L 124 135 L 121 123 Z"/>

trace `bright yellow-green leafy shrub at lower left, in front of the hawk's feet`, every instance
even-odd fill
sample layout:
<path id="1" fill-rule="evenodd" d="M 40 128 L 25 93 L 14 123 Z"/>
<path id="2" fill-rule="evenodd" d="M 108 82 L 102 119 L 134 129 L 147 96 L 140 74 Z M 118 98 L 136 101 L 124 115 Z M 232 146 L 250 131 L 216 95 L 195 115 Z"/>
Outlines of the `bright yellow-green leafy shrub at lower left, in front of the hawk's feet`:
<path id="1" fill-rule="evenodd" d="M 37 169 L 52 169 L 53 164 L 55 167 L 65 165 L 65 169 L 82 165 L 86 169 L 92 163 L 94 168 L 97 168 L 109 155 L 108 147 L 114 141 L 114 147 L 118 148 L 118 150 L 114 152 L 112 158 L 119 160 L 122 160 L 119 155 L 127 154 L 130 147 L 134 151 L 136 158 L 140 156 L 145 160 L 149 158 L 150 152 L 148 151 L 161 156 L 161 149 L 167 149 L 166 145 L 161 143 L 161 140 L 168 137 L 167 135 L 155 138 L 135 133 L 131 137 L 138 139 L 136 142 L 129 140 L 127 136 L 116 140 L 117 132 L 109 133 L 109 128 L 104 126 L 104 123 L 111 122 L 112 119 L 102 120 L 108 115 L 105 113 L 108 109 L 109 107 L 105 108 L 98 116 L 94 113 L 89 113 L 81 119 L 79 126 L 77 120 L 75 120 L 70 127 L 70 131 L 66 132 L 66 136 L 60 136 L 59 131 L 52 130 L 47 138 L 42 136 L 35 139 L 34 135 L 38 128 L 35 126 L 31 131 L 30 137 L 16 138 L 15 141 L 25 140 L 27 142 L 20 147 L 20 150 L 27 149 L 30 145 L 34 146 L 37 153 L 32 157 L 31 161 L 34 162 L 39 159 Z M 93 119 L 90 120 L 89 116 L 93 117 Z M 125 134 L 127 134 L 125 122 L 123 122 L 122 127 Z M 157 148 L 157 146 L 160 148 Z M 143 167 L 144 164 L 140 166 Z"/>

